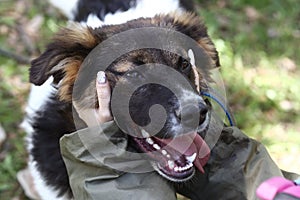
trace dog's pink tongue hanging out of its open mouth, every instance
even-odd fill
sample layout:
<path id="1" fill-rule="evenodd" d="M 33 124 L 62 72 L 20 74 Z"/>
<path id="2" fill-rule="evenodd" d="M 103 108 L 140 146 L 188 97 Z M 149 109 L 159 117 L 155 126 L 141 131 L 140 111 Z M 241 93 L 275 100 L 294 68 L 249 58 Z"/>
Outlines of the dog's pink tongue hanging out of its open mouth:
<path id="1" fill-rule="evenodd" d="M 197 156 L 193 163 L 202 173 L 204 173 L 203 166 L 209 159 L 210 149 L 199 134 L 195 132 L 172 139 L 156 139 L 167 145 L 164 147 L 166 150 L 171 147 L 186 157 L 196 153 Z"/>

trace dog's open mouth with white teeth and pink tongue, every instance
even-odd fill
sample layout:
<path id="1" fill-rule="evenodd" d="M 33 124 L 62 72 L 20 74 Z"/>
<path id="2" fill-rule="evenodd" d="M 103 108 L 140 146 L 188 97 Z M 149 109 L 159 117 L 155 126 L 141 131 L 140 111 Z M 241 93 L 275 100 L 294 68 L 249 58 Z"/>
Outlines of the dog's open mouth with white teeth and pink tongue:
<path id="1" fill-rule="evenodd" d="M 183 182 L 193 177 L 195 167 L 204 172 L 210 149 L 197 132 L 172 139 L 134 138 L 140 149 L 153 160 L 153 167 L 163 177 Z"/>

